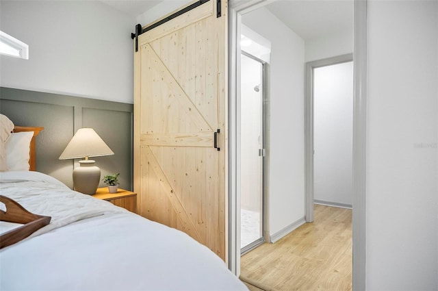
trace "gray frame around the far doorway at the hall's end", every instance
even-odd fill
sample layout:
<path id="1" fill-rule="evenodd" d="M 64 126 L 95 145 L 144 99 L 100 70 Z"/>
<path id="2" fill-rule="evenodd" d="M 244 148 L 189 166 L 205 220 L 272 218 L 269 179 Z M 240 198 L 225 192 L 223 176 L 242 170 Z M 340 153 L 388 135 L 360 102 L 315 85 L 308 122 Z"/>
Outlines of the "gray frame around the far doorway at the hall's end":
<path id="1" fill-rule="evenodd" d="M 334 64 L 342 64 L 344 62 L 353 61 L 353 54 L 347 53 L 345 55 L 338 55 L 333 58 L 326 58 L 322 60 L 315 60 L 306 63 L 306 86 L 305 86 L 305 101 L 304 101 L 304 150 L 305 150 L 305 220 L 306 223 L 311 223 L 314 220 L 313 216 L 313 203 L 314 203 L 314 144 L 313 140 L 313 69 L 320 68 L 322 66 L 331 66 Z"/>

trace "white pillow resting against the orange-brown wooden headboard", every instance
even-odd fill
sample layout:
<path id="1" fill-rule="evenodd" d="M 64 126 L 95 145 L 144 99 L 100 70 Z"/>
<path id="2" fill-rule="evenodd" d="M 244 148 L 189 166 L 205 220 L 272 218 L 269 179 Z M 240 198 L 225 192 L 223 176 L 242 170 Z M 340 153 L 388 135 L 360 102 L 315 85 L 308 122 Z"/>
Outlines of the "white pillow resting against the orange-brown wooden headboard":
<path id="1" fill-rule="evenodd" d="M 5 142 L 8 170 L 29 170 L 30 141 L 33 136 L 34 131 L 16 132 Z"/>

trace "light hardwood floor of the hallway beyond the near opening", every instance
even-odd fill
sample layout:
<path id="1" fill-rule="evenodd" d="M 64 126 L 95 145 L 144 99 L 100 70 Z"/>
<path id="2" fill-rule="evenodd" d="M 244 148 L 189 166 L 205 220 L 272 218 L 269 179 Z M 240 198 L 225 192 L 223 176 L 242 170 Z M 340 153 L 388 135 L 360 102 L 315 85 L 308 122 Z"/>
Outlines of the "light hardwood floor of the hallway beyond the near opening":
<path id="1" fill-rule="evenodd" d="M 315 205 L 313 223 L 243 255 L 240 273 L 262 290 L 352 290 L 351 210 Z"/>

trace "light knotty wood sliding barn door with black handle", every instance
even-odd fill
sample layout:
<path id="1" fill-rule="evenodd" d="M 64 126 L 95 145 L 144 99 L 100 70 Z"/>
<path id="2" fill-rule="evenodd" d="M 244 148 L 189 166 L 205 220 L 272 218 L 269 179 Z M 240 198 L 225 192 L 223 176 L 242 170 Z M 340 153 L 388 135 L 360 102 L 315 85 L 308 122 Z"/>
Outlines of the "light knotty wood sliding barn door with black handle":
<path id="1" fill-rule="evenodd" d="M 138 37 L 134 190 L 138 214 L 226 261 L 227 1 L 220 17 L 217 5 L 209 0 Z"/>

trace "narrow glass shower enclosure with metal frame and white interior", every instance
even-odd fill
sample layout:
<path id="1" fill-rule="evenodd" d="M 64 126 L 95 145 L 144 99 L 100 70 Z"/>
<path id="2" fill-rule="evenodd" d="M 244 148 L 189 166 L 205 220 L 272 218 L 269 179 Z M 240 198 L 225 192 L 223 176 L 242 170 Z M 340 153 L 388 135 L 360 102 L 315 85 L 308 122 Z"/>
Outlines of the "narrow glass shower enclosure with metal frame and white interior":
<path id="1" fill-rule="evenodd" d="M 242 51 L 240 94 L 241 253 L 263 243 L 263 77 L 265 63 Z"/>

